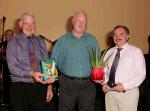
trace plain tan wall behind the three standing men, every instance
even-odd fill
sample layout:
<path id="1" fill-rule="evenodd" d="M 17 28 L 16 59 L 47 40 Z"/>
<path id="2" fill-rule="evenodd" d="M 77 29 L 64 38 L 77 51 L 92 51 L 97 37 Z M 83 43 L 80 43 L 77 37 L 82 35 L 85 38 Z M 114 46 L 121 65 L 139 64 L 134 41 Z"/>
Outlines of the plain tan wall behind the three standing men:
<path id="1" fill-rule="evenodd" d="M 67 31 L 71 15 L 85 10 L 87 31 L 96 36 L 101 49 L 106 48 L 111 29 L 121 24 L 130 29 L 130 42 L 148 53 L 149 4 L 149 0 L 0 0 L 0 18 L 6 17 L 5 29 L 13 28 L 23 12 L 32 12 L 37 18 L 36 34 L 54 41 Z"/>

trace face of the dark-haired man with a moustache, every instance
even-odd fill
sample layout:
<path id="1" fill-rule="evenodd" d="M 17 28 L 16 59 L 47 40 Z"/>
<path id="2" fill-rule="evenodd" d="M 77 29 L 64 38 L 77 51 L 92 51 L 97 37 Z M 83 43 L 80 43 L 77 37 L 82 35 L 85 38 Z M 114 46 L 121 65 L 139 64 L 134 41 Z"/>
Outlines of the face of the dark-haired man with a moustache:
<path id="1" fill-rule="evenodd" d="M 120 27 L 114 30 L 114 42 L 118 47 L 122 47 L 128 42 L 129 35 L 124 28 Z"/>

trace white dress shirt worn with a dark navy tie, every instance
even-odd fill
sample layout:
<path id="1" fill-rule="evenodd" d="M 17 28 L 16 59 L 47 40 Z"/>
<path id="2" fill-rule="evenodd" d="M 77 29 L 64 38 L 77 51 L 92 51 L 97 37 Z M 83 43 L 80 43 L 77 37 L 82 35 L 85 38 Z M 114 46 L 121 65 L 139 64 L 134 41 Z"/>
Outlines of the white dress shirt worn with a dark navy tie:
<path id="1" fill-rule="evenodd" d="M 120 51 L 120 59 L 115 74 L 115 83 L 122 83 L 125 90 L 138 87 L 145 79 L 146 67 L 142 51 L 129 43 L 126 43 Z M 117 53 L 117 47 L 109 49 L 105 59 L 111 55 L 105 71 L 105 83 L 109 80 L 112 62 Z"/>

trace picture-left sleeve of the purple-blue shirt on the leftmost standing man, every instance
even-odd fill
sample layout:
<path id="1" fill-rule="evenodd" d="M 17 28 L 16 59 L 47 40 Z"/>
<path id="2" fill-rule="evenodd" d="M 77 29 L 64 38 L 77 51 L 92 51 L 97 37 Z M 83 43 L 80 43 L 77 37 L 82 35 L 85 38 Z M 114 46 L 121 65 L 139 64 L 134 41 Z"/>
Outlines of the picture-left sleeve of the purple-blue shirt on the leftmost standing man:
<path id="1" fill-rule="evenodd" d="M 12 75 L 25 78 L 30 77 L 30 69 L 21 67 L 19 63 L 19 59 L 17 56 L 17 43 L 15 39 L 8 42 L 6 50 L 6 59 L 9 71 Z"/>

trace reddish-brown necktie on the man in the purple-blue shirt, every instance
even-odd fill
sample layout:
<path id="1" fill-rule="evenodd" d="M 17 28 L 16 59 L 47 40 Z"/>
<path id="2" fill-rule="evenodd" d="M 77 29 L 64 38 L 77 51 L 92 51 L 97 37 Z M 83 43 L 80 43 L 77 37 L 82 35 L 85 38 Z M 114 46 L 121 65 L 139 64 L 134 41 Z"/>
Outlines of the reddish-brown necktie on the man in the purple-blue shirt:
<path id="1" fill-rule="evenodd" d="M 38 71 L 38 61 L 36 56 L 36 44 L 33 37 L 28 37 L 29 40 L 29 58 L 33 71 Z"/>

